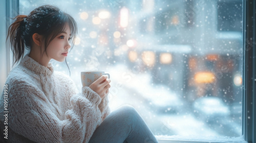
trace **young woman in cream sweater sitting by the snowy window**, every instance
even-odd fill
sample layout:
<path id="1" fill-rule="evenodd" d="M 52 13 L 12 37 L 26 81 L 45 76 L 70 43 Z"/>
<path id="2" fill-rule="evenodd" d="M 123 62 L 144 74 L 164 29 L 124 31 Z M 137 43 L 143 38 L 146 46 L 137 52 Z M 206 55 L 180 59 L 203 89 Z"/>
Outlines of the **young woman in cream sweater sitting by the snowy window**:
<path id="1" fill-rule="evenodd" d="M 8 111 L 0 117 L 2 142 L 157 142 L 133 107 L 110 113 L 106 76 L 78 93 L 70 77 L 53 70 L 49 61 L 65 61 L 76 33 L 75 20 L 50 5 L 11 24 L 8 37 L 19 65 L 0 99 L 0 112 Z"/>

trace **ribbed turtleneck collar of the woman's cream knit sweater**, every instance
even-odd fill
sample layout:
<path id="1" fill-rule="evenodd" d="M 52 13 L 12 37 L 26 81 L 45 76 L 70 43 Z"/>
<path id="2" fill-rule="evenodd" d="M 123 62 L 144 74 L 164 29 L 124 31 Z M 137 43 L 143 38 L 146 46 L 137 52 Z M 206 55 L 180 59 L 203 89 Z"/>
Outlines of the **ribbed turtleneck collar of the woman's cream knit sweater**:
<path id="1" fill-rule="evenodd" d="M 47 67 L 42 66 L 41 64 L 37 63 L 34 59 L 30 58 L 28 55 L 24 56 L 22 61 L 20 61 L 20 64 L 38 74 L 44 74 L 49 76 L 53 74 L 53 67 L 51 63 L 49 63 Z"/>

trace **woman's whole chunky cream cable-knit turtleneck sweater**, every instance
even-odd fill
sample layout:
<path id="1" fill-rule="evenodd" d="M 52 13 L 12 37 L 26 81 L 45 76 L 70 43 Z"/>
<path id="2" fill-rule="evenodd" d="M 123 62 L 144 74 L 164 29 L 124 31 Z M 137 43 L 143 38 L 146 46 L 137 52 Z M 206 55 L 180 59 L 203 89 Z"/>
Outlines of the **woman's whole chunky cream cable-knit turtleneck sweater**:
<path id="1" fill-rule="evenodd" d="M 88 142 L 109 115 L 108 97 L 88 87 L 78 93 L 72 79 L 28 55 L 9 74 L 7 142 Z M 4 113 L 4 92 L 0 99 Z M 0 117 L 3 136 L 5 117 Z"/>

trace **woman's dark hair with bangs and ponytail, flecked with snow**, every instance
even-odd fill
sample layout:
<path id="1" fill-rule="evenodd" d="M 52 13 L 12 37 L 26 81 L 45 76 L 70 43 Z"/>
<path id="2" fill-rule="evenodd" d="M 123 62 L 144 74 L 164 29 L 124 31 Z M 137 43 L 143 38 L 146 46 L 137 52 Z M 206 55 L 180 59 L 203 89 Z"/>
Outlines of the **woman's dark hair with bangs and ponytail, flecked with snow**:
<path id="1" fill-rule="evenodd" d="M 18 15 L 14 19 L 16 20 L 10 25 L 7 36 L 7 39 L 10 36 L 13 64 L 23 58 L 25 48 L 28 50 L 31 49 L 32 35 L 34 33 L 42 35 L 45 41 L 44 52 L 46 52 L 50 42 L 57 35 L 64 32 L 66 26 L 69 26 L 72 34 L 71 47 L 73 48 L 74 46 L 75 37 L 77 35 L 76 22 L 72 16 L 60 11 L 57 7 L 43 5 L 34 9 L 28 16 Z"/>

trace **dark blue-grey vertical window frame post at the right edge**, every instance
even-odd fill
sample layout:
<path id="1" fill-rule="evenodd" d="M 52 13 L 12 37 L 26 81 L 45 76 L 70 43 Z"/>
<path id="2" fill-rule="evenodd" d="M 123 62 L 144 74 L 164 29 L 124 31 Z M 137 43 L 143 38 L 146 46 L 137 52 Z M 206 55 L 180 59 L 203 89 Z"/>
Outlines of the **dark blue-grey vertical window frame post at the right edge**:
<path id="1" fill-rule="evenodd" d="M 243 135 L 247 142 L 256 142 L 256 98 L 255 98 L 255 82 L 256 82 L 256 50 L 255 50 L 255 1 L 244 1 L 244 35 L 243 49 L 244 65 L 243 65 Z M 250 40 L 251 38 L 251 40 Z"/>

